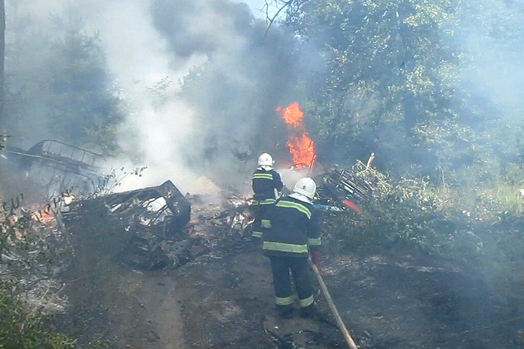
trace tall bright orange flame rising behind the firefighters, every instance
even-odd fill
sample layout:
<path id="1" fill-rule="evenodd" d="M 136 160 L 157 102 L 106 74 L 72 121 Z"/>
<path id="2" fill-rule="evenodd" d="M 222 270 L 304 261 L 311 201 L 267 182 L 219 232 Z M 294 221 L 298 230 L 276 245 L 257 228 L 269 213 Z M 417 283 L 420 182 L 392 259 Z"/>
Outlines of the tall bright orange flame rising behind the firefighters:
<path id="1" fill-rule="evenodd" d="M 291 103 L 285 108 L 278 107 L 277 112 L 282 115 L 284 122 L 290 126 L 291 133 L 288 140 L 289 152 L 293 156 L 293 165 L 296 168 L 312 169 L 315 160 L 315 143 L 309 138 L 305 130 L 304 112 L 298 102 Z"/>

